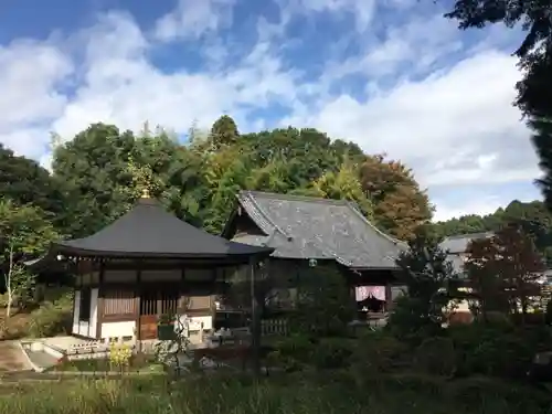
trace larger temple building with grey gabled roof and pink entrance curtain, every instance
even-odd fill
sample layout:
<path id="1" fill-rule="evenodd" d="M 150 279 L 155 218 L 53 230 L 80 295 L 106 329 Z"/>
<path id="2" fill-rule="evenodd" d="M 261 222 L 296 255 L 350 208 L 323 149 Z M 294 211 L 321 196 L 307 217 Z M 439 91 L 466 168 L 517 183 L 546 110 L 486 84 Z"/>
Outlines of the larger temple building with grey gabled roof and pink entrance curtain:
<path id="1" fill-rule="evenodd" d="M 241 191 L 222 235 L 274 248 L 270 272 L 289 280 L 270 295 L 275 306 L 293 306 L 294 283 L 308 266 L 341 272 L 360 316 L 389 310 L 402 291 L 396 259 L 406 243 L 375 227 L 351 201 Z"/>

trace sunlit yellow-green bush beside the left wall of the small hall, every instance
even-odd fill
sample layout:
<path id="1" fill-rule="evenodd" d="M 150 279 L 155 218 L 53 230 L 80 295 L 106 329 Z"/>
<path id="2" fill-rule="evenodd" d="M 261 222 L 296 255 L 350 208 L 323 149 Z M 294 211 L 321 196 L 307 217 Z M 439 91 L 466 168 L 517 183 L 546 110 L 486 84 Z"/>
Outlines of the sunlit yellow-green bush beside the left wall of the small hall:
<path id="1" fill-rule="evenodd" d="M 46 301 L 31 312 L 28 335 L 33 338 L 67 333 L 73 321 L 73 294 Z"/>

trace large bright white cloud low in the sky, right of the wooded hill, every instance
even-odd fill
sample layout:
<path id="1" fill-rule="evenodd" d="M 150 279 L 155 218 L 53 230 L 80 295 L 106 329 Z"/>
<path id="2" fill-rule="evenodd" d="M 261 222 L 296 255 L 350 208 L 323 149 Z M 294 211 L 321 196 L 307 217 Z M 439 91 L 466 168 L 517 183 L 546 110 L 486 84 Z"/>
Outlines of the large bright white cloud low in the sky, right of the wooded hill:
<path id="1" fill-rule="evenodd" d="M 486 51 L 368 102 L 333 97 L 289 123 L 401 159 L 425 185 L 531 180 L 538 174 L 535 156 L 511 105 L 519 77 L 512 57 Z"/>

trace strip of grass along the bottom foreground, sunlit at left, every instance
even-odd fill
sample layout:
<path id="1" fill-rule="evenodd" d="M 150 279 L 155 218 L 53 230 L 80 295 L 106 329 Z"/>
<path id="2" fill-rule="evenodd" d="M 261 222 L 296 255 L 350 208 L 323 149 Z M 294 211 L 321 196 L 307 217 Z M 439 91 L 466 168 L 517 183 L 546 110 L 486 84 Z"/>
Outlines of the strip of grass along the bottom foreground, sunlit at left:
<path id="1" fill-rule="evenodd" d="M 10 395 L 0 394 L 0 412 L 19 414 L 544 414 L 551 407 L 550 394 L 531 388 L 487 379 L 450 382 L 420 375 L 360 382 L 348 374 L 305 373 L 261 381 L 219 374 L 194 374 L 172 382 L 81 379 L 17 384 Z"/>

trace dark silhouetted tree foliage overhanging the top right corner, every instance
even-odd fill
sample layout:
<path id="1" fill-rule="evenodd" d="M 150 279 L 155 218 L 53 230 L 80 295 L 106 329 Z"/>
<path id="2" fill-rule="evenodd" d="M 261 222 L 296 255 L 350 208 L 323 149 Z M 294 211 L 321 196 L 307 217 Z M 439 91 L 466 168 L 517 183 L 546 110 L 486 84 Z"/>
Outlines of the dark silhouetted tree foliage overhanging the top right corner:
<path id="1" fill-rule="evenodd" d="M 527 33 L 520 46 L 514 51 L 523 78 L 517 83 L 516 105 L 529 119 L 534 131 L 533 144 L 537 147 L 544 179 L 539 184 L 552 209 L 552 141 L 538 137 L 550 136 L 546 121 L 552 119 L 552 0 L 510 1 L 510 0 L 457 0 L 454 9 L 445 14 L 459 22 L 460 29 L 484 28 L 487 24 L 505 23 L 509 28 L 518 26 Z"/>

